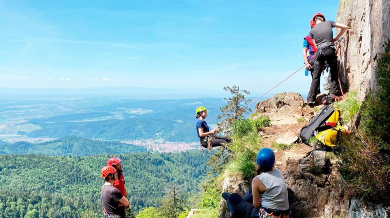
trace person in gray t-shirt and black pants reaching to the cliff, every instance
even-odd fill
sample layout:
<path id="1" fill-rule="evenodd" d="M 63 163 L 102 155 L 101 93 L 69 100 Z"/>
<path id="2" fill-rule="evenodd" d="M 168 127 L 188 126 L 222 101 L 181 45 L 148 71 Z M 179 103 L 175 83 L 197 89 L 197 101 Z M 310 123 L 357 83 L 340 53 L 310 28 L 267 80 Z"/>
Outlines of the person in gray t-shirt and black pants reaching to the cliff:
<path id="1" fill-rule="evenodd" d="M 313 39 L 314 45 L 317 47 L 317 52 L 315 53 L 313 61 L 313 78 L 311 81 L 309 94 L 307 95 L 307 104 L 310 107 L 314 107 L 316 93 L 320 85 L 322 65 L 325 61 L 327 61 L 329 64 L 331 74 L 329 94 L 337 95 L 338 93 L 338 66 L 334 41 L 337 41 L 349 28 L 347 25 L 334 22 L 332 20 L 326 21 L 325 16 L 322 15 L 322 13 L 315 13 L 312 20 L 315 23 L 315 26 L 310 30 L 309 37 Z M 333 38 L 333 27 L 341 28 L 341 31 L 335 38 Z"/>

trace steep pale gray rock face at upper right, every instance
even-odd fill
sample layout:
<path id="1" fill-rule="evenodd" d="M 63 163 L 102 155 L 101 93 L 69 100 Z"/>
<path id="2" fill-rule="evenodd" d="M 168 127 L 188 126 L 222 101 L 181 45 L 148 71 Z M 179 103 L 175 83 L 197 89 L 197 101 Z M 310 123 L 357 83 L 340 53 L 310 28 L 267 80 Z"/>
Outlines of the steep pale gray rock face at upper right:
<path id="1" fill-rule="evenodd" d="M 361 100 L 376 88 L 376 60 L 390 38 L 390 0 L 340 0 L 336 21 L 352 27 L 337 55 L 342 81 Z"/>

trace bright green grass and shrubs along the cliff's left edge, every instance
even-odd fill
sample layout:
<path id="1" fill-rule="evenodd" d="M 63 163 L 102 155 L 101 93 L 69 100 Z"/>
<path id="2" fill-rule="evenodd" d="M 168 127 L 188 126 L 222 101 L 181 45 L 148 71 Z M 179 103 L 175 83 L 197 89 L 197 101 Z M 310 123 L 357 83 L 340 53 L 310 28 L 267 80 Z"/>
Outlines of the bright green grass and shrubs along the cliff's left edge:
<path id="1" fill-rule="evenodd" d="M 198 205 L 201 209 L 192 217 L 217 216 L 225 176 L 250 178 L 255 175 L 256 155 L 262 148 L 262 137 L 259 131 L 270 125 L 271 122 L 267 116 L 233 122 L 230 136 L 233 141 L 229 144 L 228 151 L 221 148 L 211 156 L 209 164 L 213 166 L 213 172 L 211 172 L 213 176 L 202 182 L 201 189 L 204 192 L 200 196 Z"/>

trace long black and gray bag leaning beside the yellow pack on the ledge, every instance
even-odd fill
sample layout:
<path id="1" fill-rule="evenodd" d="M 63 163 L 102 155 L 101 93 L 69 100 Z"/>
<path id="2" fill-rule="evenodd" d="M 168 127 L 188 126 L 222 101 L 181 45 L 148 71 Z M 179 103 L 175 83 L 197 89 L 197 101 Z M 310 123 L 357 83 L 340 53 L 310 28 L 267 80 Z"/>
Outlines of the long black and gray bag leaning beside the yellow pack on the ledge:
<path id="1" fill-rule="evenodd" d="M 328 105 L 321 107 L 321 110 L 317 113 L 316 116 L 312 117 L 309 123 L 301 129 L 299 132 L 299 137 L 301 141 L 307 145 L 310 145 L 309 138 L 314 135 L 314 130 L 322 125 L 330 115 L 334 112 L 334 108 Z M 330 126 L 331 128 L 331 126 Z"/>

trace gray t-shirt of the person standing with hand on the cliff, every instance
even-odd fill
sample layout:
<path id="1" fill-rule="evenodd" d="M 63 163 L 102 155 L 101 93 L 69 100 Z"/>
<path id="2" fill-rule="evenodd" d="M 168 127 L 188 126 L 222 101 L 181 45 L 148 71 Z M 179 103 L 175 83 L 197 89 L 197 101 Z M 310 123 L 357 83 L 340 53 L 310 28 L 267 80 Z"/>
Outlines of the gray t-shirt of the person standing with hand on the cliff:
<path id="1" fill-rule="evenodd" d="M 323 42 L 333 42 L 333 30 L 336 22 L 332 20 L 327 20 L 320 22 L 315 25 L 309 33 L 310 38 L 314 38 L 317 46 Z"/>

